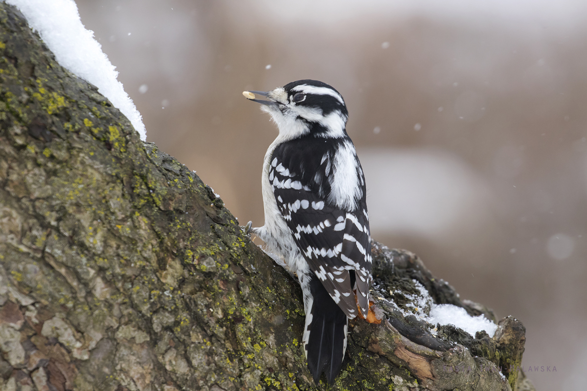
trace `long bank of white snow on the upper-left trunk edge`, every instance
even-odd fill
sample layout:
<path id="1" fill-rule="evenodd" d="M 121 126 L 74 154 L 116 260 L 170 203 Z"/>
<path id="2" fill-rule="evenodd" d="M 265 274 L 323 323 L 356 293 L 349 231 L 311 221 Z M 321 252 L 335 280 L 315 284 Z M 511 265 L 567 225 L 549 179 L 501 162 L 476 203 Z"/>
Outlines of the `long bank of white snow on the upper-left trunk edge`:
<path id="1" fill-rule="evenodd" d="M 134 106 L 120 81 L 118 72 L 102 52 L 102 45 L 94 39 L 94 32 L 86 30 L 73 0 L 6 0 L 25 16 L 29 26 L 36 30 L 43 42 L 55 54 L 61 66 L 94 84 L 114 107 L 129 118 L 141 140 L 147 133 L 143 117 Z"/>

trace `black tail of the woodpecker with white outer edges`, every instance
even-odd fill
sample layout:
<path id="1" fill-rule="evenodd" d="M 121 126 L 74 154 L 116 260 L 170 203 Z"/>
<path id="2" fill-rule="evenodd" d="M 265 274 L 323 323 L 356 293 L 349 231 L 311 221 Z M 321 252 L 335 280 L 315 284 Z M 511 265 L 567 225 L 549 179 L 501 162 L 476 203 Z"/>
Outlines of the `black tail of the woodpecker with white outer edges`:
<path id="1" fill-rule="evenodd" d="M 332 384 L 345 358 L 348 319 L 316 276 L 309 285 L 311 298 L 302 338 L 308 369 L 316 384 L 322 372 Z"/>

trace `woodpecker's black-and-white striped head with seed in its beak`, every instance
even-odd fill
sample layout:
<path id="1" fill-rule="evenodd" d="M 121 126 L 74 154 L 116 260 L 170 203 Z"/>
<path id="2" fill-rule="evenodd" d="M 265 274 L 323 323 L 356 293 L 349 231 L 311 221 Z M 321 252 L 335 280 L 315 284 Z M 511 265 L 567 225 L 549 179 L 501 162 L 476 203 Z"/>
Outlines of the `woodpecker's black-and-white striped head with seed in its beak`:
<path id="1" fill-rule="evenodd" d="M 262 104 L 286 140 L 312 134 L 345 137 L 349 112 L 338 91 L 322 81 L 298 80 L 271 91 L 244 91 L 249 100 Z M 261 95 L 267 100 L 257 99 Z"/>

